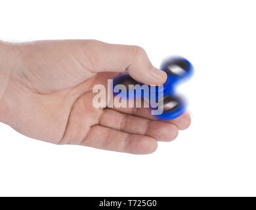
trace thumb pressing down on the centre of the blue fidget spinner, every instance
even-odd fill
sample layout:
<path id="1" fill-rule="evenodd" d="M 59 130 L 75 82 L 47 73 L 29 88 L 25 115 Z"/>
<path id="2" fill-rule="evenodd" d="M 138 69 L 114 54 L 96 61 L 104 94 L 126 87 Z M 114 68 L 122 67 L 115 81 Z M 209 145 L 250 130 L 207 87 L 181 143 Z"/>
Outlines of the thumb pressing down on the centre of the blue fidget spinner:
<path id="1" fill-rule="evenodd" d="M 165 72 L 152 66 L 146 52 L 141 47 L 113 45 L 100 41 L 90 41 L 89 60 L 93 72 L 129 72 L 133 79 L 148 84 L 161 85 L 166 79 Z"/>

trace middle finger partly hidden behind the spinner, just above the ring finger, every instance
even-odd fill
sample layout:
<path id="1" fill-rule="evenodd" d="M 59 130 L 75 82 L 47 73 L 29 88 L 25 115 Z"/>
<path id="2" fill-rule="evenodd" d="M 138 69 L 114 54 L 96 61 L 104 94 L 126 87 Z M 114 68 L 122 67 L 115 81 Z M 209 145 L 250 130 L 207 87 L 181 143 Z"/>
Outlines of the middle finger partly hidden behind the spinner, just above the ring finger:
<path id="1" fill-rule="evenodd" d="M 156 117 L 150 114 L 150 110 L 148 108 L 114 108 L 118 112 L 122 112 L 125 114 L 131 114 L 133 116 L 144 117 L 147 119 L 156 120 Z M 172 119 L 170 121 L 165 121 L 166 123 L 173 123 L 176 125 L 179 130 L 187 129 L 191 123 L 190 115 L 186 112 L 182 114 L 182 116 L 177 117 L 176 119 Z"/>

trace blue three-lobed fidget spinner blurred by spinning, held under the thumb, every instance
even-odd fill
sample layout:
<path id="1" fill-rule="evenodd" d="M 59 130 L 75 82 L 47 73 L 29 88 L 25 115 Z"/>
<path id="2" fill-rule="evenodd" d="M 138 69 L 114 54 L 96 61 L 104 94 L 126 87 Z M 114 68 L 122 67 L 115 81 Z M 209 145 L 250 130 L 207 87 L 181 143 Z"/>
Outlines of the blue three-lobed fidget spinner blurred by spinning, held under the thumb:
<path id="1" fill-rule="evenodd" d="M 189 78 L 192 75 L 193 72 L 193 66 L 190 64 L 188 60 L 182 57 L 171 57 L 167 60 L 164 60 L 160 66 L 160 70 L 166 72 L 167 74 L 167 80 L 163 84 L 163 86 L 148 86 L 149 94 L 145 94 L 144 91 L 141 91 L 141 93 L 137 93 L 133 90 L 133 93 L 131 91 L 125 92 L 125 98 L 131 98 L 131 97 L 142 97 L 146 100 L 150 100 L 150 97 L 152 97 L 152 93 L 154 92 L 154 99 L 156 99 L 156 102 L 158 104 L 162 104 L 163 112 L 158 115 L 154 115 L 157 119 L 160 120 L 170 120 L 175 119 L 176 117 L 181 116 L 184 111 L 186 110 L 186 104 L 184 100 L 180 97 L 175 95 L 175 87 L 177 84 L 179 84 L 180 81 L 184 81 L 184 79 Z M 121 94 L 121 91 L 114 91 L 116 85 L 144 85 L 143 83 L 139 83 L 138 81 L 135 81 L 129 74 L 123 74 L 119 75 L 116 78 L 114 78 L 113 81 L 113 93 L 114 95 Z M 160 94 L 161 93 L 161 94 Z M 161 103 L 160 103 L 161 100 Z M 157 110 L 159 107 L 151 106 L 151 110 Z"/>

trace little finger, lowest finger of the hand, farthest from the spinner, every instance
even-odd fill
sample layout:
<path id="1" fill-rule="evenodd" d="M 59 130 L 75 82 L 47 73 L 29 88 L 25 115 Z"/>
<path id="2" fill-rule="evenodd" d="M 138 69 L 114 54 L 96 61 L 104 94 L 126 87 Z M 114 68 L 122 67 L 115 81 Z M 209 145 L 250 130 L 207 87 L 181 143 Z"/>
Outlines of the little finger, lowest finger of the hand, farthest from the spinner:
<path id="1" fill-rule="evenodd" d="M 150 154 L 156 150 L 158 142 L 152 137 L 132 135 L 95 125 L 81 145 L 131 154 Z"/>

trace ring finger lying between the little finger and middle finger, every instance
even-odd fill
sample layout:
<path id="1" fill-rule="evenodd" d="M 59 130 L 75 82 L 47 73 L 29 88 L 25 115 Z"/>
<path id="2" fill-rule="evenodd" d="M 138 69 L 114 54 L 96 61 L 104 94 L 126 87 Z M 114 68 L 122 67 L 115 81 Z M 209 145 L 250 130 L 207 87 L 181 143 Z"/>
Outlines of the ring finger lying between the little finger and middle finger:
<path id="1" fill-rule="evenodd" d="M 142 117 L 123 114 L 112 109 L 105 109 L 99 121 L 100 125 L 125 133 L 146 135 L 160 141 L 174 140 L 179 130 L 177 126 L 162 121 L 152 121 Z"/>

